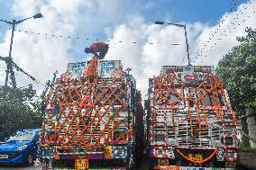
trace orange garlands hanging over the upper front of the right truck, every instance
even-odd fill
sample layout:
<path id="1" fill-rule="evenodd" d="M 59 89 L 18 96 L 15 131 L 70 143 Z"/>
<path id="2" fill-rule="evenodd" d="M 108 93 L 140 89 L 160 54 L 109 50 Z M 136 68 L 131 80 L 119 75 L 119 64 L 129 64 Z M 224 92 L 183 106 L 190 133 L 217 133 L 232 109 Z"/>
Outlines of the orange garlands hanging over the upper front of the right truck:
<path id="1" fill-rule="evenodd" d="M 206 85 L 207 83 L 207 85 Z M 177 87 L 178 86 L 178 87 Z M 184 97 L 184 89 L 187 89 L 187 97 Z M 196 93 L 197 94 L 196 94 Z M 190 135 L 193 138 L 193 119 L 192 119 L 192 112 L 190 109 L 190 103 L 195 103 L 196 105 L 196 112 L 197 112 L 197 125 L 198 130 L 201 134 L 202 132 L 202 124 L 201 124 L 201 109 L 199 107 L 199 103 L 203 109 L 204 113 L 204 122 L 206 128 L 208 128 L 207 124 L 207 112 L 206 112 L 206 103 L 205 98 L 208 97 L 208 95 L 211 95 L 212 103 L 210 107 L 215 111 L 216 119 L 223 119 L 225 112 L 223 112 L 223 106 L 219 99 L 220 96 L 224 98 L 224 103 L 231 112 L 233 116 L 233 126 L 235 127 L 235 115 L 234 112 L 225 96 L 224 93 L 224 85 L 222 81 L 219 81 L 217 79 L 217 76 L 213 76 L 211 74 L 206 75 L 206 77 L 203 77 L 202 83 L 198 85 L 197 87 L 191 87 L 185 85 L 184 82 L 182 82 L 181 78 L 176 75 L 175 72 L 170 72 L 164 75 L 156 76 L 153 78 L 153 90 L 152 90 L 152 97 L 151 101 L 153 105 L 160 105 L 163 107 L 169 106 L 171 110 L 171 117 L 172 117 L 172 123 L 173 123 L 173 133 L 175 133 L 175 123 L 174 123 L 174 117 L 175 117 L 175 105 L 180 102 L 187 103 L 184 106 L 187 105 L 188 109 L 188 117 L 189 117 L 189 125 L 190 125 Z M 170 95 L 175 95 L 175 99 L 171 101 Z M 221 94 L 219 96 L 219 94 Z M 194 96 L 194 95 L 197 95 Z M 154 111 L 155 108 L 152 106 L 152 111 Z M 156 120 L 156 113 L 153 112 L 152 119 Z"/>

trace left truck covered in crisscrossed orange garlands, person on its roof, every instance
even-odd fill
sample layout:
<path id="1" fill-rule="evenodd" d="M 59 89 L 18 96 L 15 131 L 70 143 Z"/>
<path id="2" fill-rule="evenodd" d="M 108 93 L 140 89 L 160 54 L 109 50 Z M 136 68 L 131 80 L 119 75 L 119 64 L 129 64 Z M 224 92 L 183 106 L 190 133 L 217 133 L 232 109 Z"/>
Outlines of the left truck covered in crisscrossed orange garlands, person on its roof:
<path id="1" fill-rule="evenodd" d="M 120 60 L 69 63 L 43 100 L 43 169 L 132 169 L 136 94 Z"/>

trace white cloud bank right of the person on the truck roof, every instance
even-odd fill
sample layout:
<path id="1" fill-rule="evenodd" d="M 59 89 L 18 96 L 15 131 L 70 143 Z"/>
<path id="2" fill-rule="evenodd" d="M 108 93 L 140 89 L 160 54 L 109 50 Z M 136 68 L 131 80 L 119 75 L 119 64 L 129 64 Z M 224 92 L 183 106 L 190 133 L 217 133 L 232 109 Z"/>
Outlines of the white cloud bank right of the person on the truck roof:
<path id="1" fill-rule="evenodd" d="M 224 13 L 224 22 L 220 26 L 211 27 L 200 22 L 187 23 L 190 58 L 195 60 L 192 64 L 216 66 L 228 50 L 239 44 L 236 36 L 244 35 L 246 27 L 256 28 L 253 13 L 255 8 L 255 0 L 241 4 L 237 11 Z M 134 22 L 136 24 L 133 24 Z M 197 57 L 197 52 L 200 51 L 203 42 L 208 40 L 209 33 L 215 32 L 216 29 L 218 31 L 214 38 L 207 43 L 201 56 Z M 126 43 L 119 43 L 118 40 Z M 132 44 L 133 40 L 139 43 Z M 150 42 L 154 44 L 149 44 Z M 173 43 L 181 45 L 171 46 Z M 147 25 L 140 16 L 133 16 L 130 22 L 117 26 L 110 45 L 106 58 L 122 59 L 124 67 L 132 67 L 132 74 L 136 77 L 138 88 L 143 95 L 147 93 L 148 78 L 158 76 L 161 66 L 187 65 L 184 30 L 175 26 Z M 211 48 L 212 45 L 214 46 Z"/>

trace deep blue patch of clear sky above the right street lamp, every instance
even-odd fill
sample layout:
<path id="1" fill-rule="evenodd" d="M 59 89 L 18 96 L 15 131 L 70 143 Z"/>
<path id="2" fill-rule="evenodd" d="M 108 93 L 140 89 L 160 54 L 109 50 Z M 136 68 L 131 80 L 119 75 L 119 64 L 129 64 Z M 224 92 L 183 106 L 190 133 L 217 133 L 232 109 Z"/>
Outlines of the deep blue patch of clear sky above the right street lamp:
<path id="1" fill-rule="evenodd" d="M 147 4 L 148 1 L 144 1 Z M 161 0 L 151 1 L 152 6 L 142 13 L 148 21 L 171 16 L 172 22 L 206 22 L 213 25 L 223 15 L 233 8 L 233 4 L 242 4 L 244 0 L 235 3 L 232 0 Z"/>

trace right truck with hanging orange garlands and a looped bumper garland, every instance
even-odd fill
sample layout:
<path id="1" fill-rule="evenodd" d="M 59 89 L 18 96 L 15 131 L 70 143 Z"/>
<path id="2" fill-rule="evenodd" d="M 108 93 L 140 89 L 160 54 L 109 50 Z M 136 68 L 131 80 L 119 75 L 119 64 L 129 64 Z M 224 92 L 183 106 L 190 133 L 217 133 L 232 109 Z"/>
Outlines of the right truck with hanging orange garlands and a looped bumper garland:
<path id="1" fill-rule="evenodd" d="M 163 66 L 145 101 L 151 169 L 233 169 L 235 114 L 215 68 Z"/>

